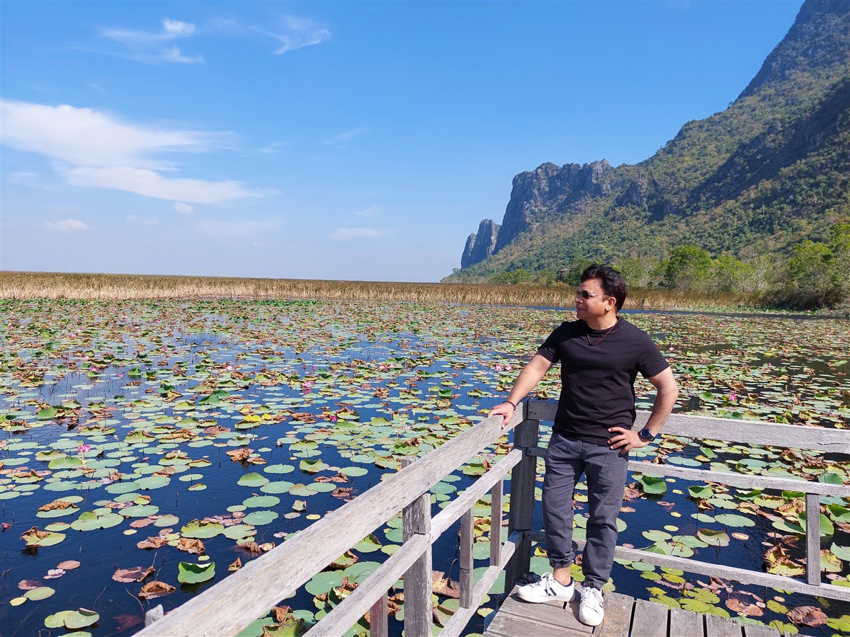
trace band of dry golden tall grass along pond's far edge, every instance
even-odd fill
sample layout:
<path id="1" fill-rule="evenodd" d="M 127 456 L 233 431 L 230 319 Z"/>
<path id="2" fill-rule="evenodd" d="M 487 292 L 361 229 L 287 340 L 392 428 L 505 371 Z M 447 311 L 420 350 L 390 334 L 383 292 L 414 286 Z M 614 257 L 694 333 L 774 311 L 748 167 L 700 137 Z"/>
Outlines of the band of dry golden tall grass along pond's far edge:
<path id="1" fill-rule="evenodd" d="M 571 286 L 389 283 L 313 279 L 0 272 L 2 299 L 314 299 L 456 302 L 572 307 Z M 741 296 L 670 290 L 635 290 L 626 309 L 697 309 L 750 304 Z"/>

